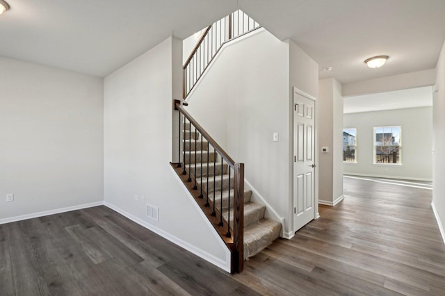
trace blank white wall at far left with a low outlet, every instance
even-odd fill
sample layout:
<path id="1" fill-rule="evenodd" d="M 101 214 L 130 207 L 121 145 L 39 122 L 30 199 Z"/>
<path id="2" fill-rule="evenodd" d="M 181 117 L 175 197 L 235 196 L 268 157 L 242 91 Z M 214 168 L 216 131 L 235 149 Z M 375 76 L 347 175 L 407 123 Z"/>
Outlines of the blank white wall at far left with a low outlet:
<path id="1" fill-rule="evenodd" d="M 102 202 L 102 79 L 0 57 L 0 81 L 0 223 Z"/>

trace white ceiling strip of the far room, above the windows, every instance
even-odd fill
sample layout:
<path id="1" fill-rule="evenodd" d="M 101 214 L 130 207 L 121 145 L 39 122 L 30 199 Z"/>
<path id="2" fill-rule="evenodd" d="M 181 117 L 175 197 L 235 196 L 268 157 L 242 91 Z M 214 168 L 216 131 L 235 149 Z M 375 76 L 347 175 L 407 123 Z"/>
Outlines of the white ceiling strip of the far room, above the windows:
<path id="1" fill-rule="evenodd" d="M 343 99 L 344 114 L 426 106 L 432 106 L 432 86 Z"/>

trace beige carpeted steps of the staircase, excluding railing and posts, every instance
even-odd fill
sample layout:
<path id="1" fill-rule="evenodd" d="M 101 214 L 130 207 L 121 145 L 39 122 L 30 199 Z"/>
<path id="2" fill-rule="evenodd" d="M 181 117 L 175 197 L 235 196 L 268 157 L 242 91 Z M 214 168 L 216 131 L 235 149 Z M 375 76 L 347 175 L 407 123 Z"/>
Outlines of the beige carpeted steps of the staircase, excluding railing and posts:
<path id="1" fill-rule="evenodd" d="M 191 174 L 197 180 L 197 188 L 201 186 L 202 190 L 208 192 L 211 204 L 222 212 L 225 221 L 229 221 L 229 204 L 231 205 L 230 213 L 233 213 L 234 204 L 234 188 L 233 174 L 229 177 L 229 165 L 223 163 L 221 158 L 213 151 L 208 151 L 209 145 L 207 140 L 202 140 L 200 133 L 191 132 L 190 124 L 186 124 L 183 134 L 186 135 L 184 140 L 186 153 L 186 164 L 191 163 Z M 195 155 L 197 157 L 195 157 Z M 201 158 L 201 155 L 203 156 Z M 209 157 L 209 165 L 207 166 L 207 156 Z M 195 166 L 196 164 L 196 166 Z M 196 168 L 195 168 L 196 167 Z M 218 176 L 213 178 L 213 176 Z M 222 176 L 222 177 L 221 177 Z M 207 185 L 207 177 L 208 185 Z M 229 182 L 230 180 L 230 182 Z M 199 190 L 198 190 L 199 191 Z M 230 196 L 230 202 L 229 202 Z M 262 249 L 270 245 L 280 236 L 281 223 L 266 219 L 264 213 L 266 206 L 251 202 L 251 190 L 244 191 L 244 260 L 250 256 L 261 252 Z M 213 202 L 214 198 L 214 202 Z M 222 209 L 222 211 L 221 211 Z M 229 222 L 233 228 L 233 222 Z"/>

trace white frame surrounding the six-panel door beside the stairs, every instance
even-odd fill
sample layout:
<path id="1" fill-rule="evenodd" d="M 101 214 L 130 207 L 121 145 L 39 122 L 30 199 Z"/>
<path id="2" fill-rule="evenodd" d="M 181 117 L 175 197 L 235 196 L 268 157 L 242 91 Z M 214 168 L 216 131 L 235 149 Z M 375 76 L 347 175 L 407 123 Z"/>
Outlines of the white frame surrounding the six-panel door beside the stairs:
<path id="1" fill-rule="evenodd" d="M 292 93 L 292 102 L 291 102 L 291 106 L 293 106 L 293 104 L 295 104 L 295 99 L 296 99 L 296 94 L 300 94 L 302 97 L 306 97 L 307 99 L 310 99 L 312 101 L 314 101 L 314 106 L 315 106 L 315 120 L 314 120 L 314 164 L 316 165 L 315 170 L 314 170 L 314 219 L 317 219 L 318 217 L 320 217 L 320 214 L 318 213 L 318 106 L 317 106 L 317 100 L 315 97 L 312 97 L 310 94 L 307 94 L 306 92 L 303 92 L 302 90 L 296 88 L 295 86 L 293 87 L 293 93 Z M 293 107 L 291 108 L 292 112 L 293 112 Z M 294 204 L 294 195 L 295 192 L 293 192 L 293 188 L 294 188 L 294 182 L 295 182 L 295 172 L 293 171 L 293 145 L 295 143 L 295 139 L 293 137 L 294 135 L 294 124 L 295 122 L 293 122 L 293 115 L 291 116 L 291 126 L 292 126 L 292 131 L 291 131 L 291 135 L 292 135 L 292 155 L 291 155 L 291 159 L 289 160 L 292 164 L 292 182 L 291 182 L 291 186 L 289 186 L 290 188 L 292 188 L 291 192 L 291 217 L 292 217 L 292 221 L 290 226 L 292 227 L 292 231 L 289 231 L 291 233 L 291 236 L 293 236 L 295 234 L 295 231 L 297 231 L 298 229 L 293 229 L 293 208 L 294 206 L 296 206 Z"/>

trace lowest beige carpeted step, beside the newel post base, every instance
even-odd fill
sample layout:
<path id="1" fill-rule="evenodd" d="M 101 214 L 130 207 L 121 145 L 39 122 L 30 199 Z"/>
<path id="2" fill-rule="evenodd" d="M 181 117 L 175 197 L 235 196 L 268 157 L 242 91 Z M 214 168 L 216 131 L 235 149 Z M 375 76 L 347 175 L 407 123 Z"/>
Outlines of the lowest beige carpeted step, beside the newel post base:
<path id="1" fill-rule="evenodd" d="M 279 222 L 263 219 L 244 229 L 244 260 L 261 252 L 280 236 Z"/>

